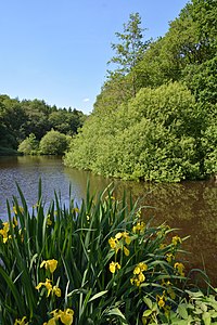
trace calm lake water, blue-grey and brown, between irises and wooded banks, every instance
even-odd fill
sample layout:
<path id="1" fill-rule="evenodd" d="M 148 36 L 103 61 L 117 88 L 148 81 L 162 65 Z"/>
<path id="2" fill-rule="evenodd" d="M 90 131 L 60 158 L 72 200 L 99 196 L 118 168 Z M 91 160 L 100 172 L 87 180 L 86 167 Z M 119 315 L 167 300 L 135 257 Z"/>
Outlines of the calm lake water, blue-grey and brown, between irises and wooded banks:
<path id="1" fill-rule="evenodd" d="M 0 218 L 7 219 L 7 198 L 17 195 L 17 182 L 27 198 L 29 207 L 37 202 L 38 181 L 41 178 L 43 198 L 49 203 L 54 190 L 61 193 L 67 205 L 69 184 L 72 196 L 79 205 L 86 196 L 87 180 L 91 192 L 103 190 L 111 179 L 90 172 L 67 168 L 58 157 L 0 157 Z M 190 235 L 183 248 L 189 251 L 189 268 L 206 270 L 212 283 L 217 287 L 217 183 L 215 181 L 184 182 L 181 184 L 150 184 L 113 180 L 115 196 L 131 192 L 140 198 L 144 219 L 153 218 L 159 225 L 167 222 L 179 227 L 180 236 Z M 151 206 L 151 207 L 149 207 Z"/>

